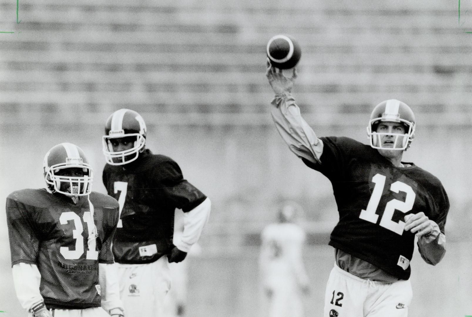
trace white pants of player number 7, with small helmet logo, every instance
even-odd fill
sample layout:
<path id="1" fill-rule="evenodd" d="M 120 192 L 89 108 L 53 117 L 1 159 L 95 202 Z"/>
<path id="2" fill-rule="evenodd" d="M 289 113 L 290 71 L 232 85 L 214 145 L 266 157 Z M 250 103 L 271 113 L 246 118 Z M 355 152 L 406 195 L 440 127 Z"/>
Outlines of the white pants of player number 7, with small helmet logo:
<path id="1" fill-rule="evenodd" d="M 170 289 L 168 264 L 166 255 L 147 264 L 117 263 L 126 317 L 162 316 L 164 298 Z"/>

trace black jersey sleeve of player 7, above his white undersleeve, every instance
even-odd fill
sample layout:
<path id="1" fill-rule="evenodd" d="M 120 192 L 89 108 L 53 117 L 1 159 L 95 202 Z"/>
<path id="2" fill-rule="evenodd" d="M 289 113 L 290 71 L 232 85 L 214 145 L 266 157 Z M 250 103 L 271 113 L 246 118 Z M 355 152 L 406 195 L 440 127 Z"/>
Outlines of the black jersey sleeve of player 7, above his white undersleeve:
<path id="1" fill-rule="evenodd" d="M 161 163 L 161 168 L 163 168 L 163 177 L 161 176 L 160 182 L 163 185 L 164 195 L 178 209 L 188 212 L 207 198 L 194 185 L 184 179 L 177 162 L 171 159 L 166 160 Z"/>

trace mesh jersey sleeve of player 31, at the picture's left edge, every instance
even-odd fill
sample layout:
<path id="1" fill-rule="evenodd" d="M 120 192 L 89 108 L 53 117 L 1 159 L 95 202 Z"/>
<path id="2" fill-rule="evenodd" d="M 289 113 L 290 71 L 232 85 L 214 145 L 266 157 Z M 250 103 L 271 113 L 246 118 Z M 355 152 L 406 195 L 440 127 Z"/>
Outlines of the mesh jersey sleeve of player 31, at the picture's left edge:
<path id="1" fill-rule="evenodd" d="M 36 264 L 40 241 L 38 233 L 34 231 L 33 207 L 8 197 L 6 210 L 11 265 L 20 262 Z"/>

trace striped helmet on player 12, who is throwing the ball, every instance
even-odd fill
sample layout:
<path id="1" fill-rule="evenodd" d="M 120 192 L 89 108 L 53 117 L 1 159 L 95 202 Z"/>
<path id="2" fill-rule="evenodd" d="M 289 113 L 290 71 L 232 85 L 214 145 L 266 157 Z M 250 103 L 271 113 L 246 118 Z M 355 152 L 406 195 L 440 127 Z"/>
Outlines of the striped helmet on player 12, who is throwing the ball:
<path id="1" fill-rule="evenodd" d="M 376 132 L 380 122 L 399 122 L 405 125 L 405 134 L 402 133 L 379 133 Z M 406 150 L 414 138 L 415 117 L 413 111 L 405 102 L 389 99 L 380 102 L 372 111 L 369 125 L 367 125 L 367 136 L 371 147 L 381 150 Z M 381 137 L 393 135 L 395 137 L 393 148 L 382 147 Z M 404 136 L 401 147 L 396 147 L 398 138 Z"/>

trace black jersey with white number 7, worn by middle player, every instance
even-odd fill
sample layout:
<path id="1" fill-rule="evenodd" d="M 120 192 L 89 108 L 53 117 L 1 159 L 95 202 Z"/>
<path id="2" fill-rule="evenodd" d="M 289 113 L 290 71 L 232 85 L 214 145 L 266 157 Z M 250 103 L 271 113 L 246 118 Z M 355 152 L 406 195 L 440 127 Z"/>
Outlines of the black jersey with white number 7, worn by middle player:
<path id="1" fill-rule="evenodd" d="M 103 184 L 121 209 L 112 247 L 118 263 L 151 263 L 166 254 L 172 247 L 175 209 L 188 212 L 206 199 L 174 160 L 150 150 L 126 165 L 107 164 Z"/>

